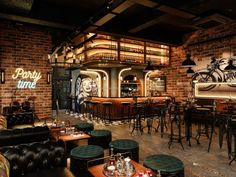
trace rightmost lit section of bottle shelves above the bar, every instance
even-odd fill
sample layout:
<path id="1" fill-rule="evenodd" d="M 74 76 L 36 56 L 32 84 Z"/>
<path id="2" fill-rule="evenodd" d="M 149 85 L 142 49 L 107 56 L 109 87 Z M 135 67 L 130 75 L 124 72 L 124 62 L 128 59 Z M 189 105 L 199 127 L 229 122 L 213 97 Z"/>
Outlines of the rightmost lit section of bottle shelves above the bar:
<path id="1" fill-rule="evenodd" d="M 169 65 L 170 47 L 155 43 L 146 43 L 146 60 L 152 65 Z"/>

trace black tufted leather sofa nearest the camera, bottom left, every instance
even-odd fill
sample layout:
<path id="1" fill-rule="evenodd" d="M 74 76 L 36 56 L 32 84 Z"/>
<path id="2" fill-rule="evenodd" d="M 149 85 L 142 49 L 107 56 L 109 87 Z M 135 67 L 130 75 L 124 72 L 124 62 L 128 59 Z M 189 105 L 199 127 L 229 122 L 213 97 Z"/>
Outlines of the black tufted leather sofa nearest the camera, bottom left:
<path id="1" fill-rule="evenodd" d="M 11 177 L 45 177 L 48 174 L 51 177 L 58 177 L 59 174 L 60 176 L 71 176 L 69 170 L 65 173 L 66 151 L 62 140 L 47 140 L 16 146 L 5 146 L 0 148 L 0 153 L 10 163 Z M 65 175 L 63 175 L 63 172 Z"/>

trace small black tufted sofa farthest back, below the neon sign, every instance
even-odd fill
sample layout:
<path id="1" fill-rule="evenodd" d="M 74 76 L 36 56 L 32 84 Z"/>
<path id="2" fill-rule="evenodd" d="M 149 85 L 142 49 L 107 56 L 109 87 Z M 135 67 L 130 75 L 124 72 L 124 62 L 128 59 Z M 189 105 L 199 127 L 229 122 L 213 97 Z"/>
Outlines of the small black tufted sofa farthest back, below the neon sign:
<path id="1" fill-rule="evenodd" d="M 6 115 L 7 128 L 12 128 L 15 125 L 30 124 L 34 125 L 34 114 L 32 112 L 22 112 L 17 114 Z"/>

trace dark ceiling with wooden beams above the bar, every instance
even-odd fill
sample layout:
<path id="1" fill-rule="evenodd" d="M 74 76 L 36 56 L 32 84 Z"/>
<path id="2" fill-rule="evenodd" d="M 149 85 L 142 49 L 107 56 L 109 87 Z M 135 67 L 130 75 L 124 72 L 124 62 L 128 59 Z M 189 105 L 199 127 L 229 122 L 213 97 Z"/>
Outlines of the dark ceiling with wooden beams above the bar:
<path id="1" fill-rule="evenodd" d="M 181 45 L 234 21 L 236 0 L 1 0 L 0 18 L 49 27 L 54 45 L 93 31 Z"/>

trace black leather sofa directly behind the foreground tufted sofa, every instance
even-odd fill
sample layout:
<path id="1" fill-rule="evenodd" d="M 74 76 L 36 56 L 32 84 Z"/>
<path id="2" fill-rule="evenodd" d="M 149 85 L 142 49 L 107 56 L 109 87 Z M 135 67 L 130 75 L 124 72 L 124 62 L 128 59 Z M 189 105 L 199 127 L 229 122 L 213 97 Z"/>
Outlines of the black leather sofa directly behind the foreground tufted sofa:
<path id="1" fill-rule="evenodd" d="M 0 147 L 12 146 L 22 143 L 45 141 L 49 138 L 47 126 L 29 127 L 23 129 L 0 130 Z"/>

